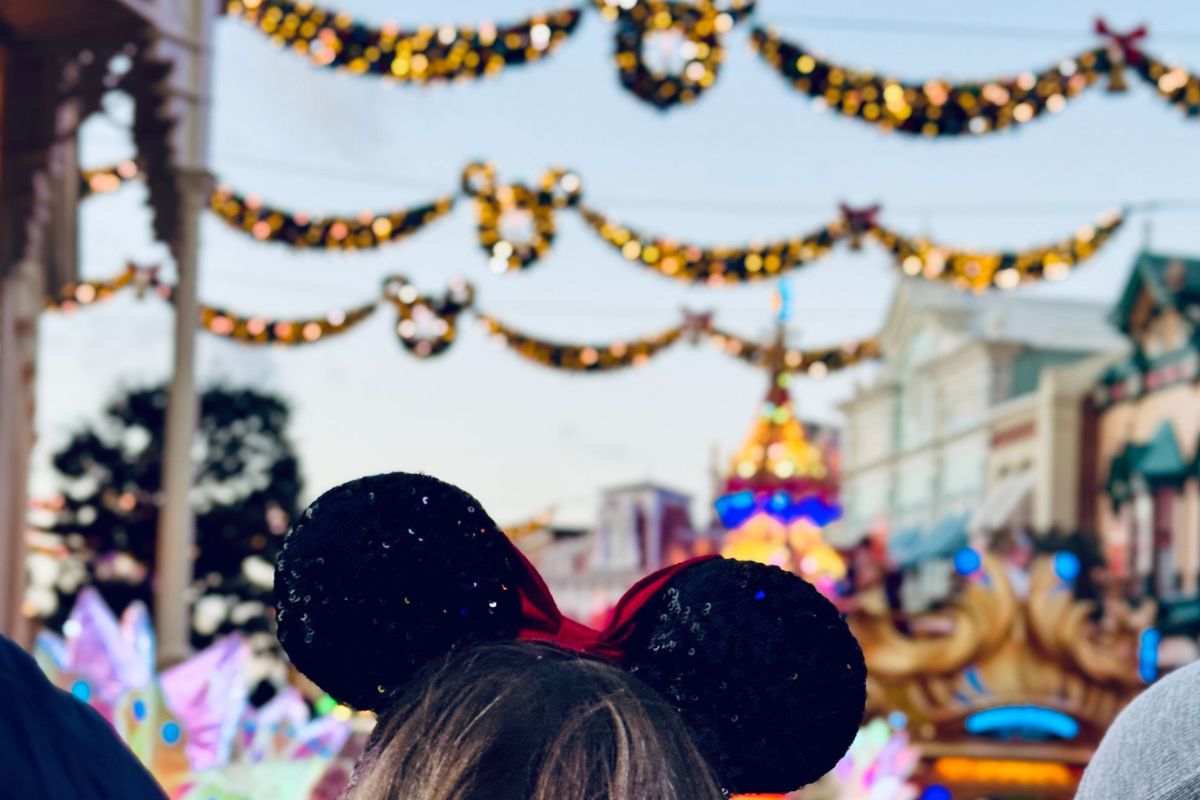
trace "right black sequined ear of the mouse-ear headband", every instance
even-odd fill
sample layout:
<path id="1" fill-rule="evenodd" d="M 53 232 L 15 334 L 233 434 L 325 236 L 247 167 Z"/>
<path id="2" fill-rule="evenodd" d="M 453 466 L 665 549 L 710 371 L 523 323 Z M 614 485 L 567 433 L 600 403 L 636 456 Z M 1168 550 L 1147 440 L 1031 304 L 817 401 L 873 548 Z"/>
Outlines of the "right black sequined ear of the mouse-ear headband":
<path id="1" fill-rule="evenodd" d="M 710 559 L 679 571 L 637 610 L 623 649 L 731 793 L 816 781 L 863 720 L 858 642 L 833 603 L 778 567 Z"/>

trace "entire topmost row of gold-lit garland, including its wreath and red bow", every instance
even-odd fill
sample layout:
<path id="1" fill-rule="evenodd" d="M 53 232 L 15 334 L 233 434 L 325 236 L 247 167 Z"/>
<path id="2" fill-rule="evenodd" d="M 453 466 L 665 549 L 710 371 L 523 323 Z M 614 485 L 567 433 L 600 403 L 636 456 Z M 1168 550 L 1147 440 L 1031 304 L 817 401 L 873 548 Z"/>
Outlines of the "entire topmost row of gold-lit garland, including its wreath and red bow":
<path id="1" fill-rule="evenodd" d="M 290 0 L 227 0 L 226 13 L 253 23 L 275 43 L 307 55 L 319 66 L 427 83 L 494 74 L 539 60 L 574 32 L 587 7 L 544 12 L 504 26 L 484 23 L 413 31 L 373 28 Z M 638 100 L 668 109 L 696 100 L 716 83 L 725 58 L 721 36 L 754 14 L 755 0 L 730 0 L 725 6 L 716 0 L 593 0 L 592 7 L 614 25 L 614 62 L 622 85 Z M 820 18 L 810 22 L 822 24 Z M 869 26 L 870 20 L 846 24 Z M 920 30 L 920 25 L 916 28 Z M 925 30 L 931 28 L 926 24 Z M 986 83 L 881 78 L 826 60 L 762 25 L 752 30 L 750 44 L 797 91 L 821 107 L 901 133 L 979 136 L 1024 125 L 1062 110 L 1102 77 L 1108 78 L 1110 92 L 1124 91 L 1127 68 L 1184 115 L 1200 116 L 1200 77 L 1146 54 L 1140 44 L 1148 34 L 1145 26 L 1120 32 L 1098 20 L 1094 32 L 1103 40 L 1099 47 L 1039 72 Z"/>

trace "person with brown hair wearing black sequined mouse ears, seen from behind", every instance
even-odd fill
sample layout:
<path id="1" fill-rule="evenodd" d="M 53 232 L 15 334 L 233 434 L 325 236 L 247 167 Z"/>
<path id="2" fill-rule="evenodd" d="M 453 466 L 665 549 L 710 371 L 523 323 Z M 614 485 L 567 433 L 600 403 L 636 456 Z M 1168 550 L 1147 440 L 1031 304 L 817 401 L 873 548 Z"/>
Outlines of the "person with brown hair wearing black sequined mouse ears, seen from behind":
<path id="1" fill-rule="evenodd" d="M 838 763 L 865 704 L 858 643 L 799 577 L 695 559 L 595 631 L 478 500 L 425 475 L 318 498 L 275 595 L 296 668 L 379 716 L 353 800 L 785 793 Z"/>

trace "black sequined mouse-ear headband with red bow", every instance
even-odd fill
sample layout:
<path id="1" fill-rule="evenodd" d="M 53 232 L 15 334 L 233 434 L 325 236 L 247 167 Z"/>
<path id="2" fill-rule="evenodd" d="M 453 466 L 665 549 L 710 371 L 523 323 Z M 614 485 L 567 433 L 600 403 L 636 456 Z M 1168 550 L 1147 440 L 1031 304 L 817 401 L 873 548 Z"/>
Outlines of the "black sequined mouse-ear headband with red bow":
<path id="1" fill-rule="evenodd" d="M 352 481 L 283 541 L 278 637 L 293 663 L 384 710 L 432 658 L 535 640 L 619 664 L 678 709 L 733 793 L 828 772 L 866 700 L 862 650 L 833 604 L 778 567 L 708 557 L 644 578 L 594 631 L 566 619 L 479 501 L 426 475 Z"/>

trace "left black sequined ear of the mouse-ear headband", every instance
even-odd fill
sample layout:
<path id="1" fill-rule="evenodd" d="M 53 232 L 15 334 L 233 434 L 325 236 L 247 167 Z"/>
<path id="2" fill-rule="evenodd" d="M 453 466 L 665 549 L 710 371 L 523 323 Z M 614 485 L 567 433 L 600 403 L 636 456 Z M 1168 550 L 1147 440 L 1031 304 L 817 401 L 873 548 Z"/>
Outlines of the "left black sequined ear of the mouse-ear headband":
<path id="1" fill-rule="evenodd" d="M 364 477 L 318 498 L 284 539 L 278 638 L 324 691 L 380 710 L 431 658 L 511 639 L 527 575 L 462 489 L 427 475 Z"/>

